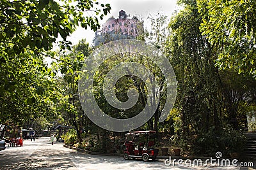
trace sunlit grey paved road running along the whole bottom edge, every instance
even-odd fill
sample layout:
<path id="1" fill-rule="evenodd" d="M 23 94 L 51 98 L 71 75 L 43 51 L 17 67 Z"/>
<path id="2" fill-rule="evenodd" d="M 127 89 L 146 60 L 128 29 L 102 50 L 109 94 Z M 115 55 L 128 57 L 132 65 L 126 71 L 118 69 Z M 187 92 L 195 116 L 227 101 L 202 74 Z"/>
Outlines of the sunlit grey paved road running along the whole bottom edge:
<path id="1" fill-rule="evenodd" d="M 49 137 L 25 140 L 23 147 L 8 147 L 0 152 L 0 169 L 240 169 L 240 167 L 188 167 L 166 166 L 164 160 L 143 162 L 124 160 L 122 157 L 89 155 L 63 147 L 63 143 L 51 145 Z M 242 169 L 242 168 L 241 168 Z M 248 169 L 248 168 L 243 168 Z M 251 168 L 252 169 L 252 168 Z"/>

